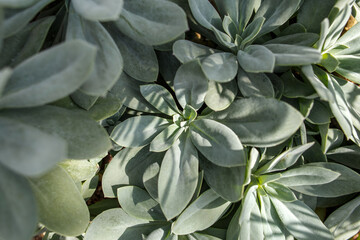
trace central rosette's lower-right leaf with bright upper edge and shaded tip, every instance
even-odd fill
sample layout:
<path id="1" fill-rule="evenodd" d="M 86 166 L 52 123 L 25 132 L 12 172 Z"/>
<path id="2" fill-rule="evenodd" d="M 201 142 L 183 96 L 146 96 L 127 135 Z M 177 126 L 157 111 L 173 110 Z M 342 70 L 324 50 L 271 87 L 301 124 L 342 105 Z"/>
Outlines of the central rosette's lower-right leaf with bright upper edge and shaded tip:
<path id="1" fill-rule="evenodd" d="M 212 163 L 223 167 L 246 164 L 243 146 L 236 134 L 225 125 L 210 119 L 190 125 L 191 141 Z"/>

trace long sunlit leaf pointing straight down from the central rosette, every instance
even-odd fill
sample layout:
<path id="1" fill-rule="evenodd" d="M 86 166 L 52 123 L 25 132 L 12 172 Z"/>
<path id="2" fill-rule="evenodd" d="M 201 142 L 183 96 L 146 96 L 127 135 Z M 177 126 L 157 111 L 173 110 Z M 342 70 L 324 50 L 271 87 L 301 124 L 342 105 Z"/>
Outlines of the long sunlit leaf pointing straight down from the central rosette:
<path id="1" fill-rule="evenodd" d="M 159 202 L 168 220 L 179 215 L 191 200 L 198 181 L 199 160 L 190 137 L 183 134 L 166 151 L 159 173 Z"/>

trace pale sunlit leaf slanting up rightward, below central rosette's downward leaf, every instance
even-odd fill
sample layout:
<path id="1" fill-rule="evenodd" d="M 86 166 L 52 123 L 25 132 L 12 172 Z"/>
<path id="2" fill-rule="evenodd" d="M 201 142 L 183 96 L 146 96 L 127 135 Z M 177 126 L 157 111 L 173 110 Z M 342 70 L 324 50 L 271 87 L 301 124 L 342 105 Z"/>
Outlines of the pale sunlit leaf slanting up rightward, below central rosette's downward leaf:
<path id="1" fill-rule="evenodd" d="M 185 235 L 207 229 L 225 213 L 230 204 L 213 190 L 207 190 L 176 219 L 172 232 Z"/>

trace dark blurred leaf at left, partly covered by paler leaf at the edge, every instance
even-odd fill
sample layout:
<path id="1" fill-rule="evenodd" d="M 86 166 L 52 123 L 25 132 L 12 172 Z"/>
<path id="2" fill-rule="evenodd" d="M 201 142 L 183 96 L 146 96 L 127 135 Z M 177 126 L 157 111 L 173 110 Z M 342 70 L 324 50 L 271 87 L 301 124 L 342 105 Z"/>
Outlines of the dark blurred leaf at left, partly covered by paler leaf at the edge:
<path id="1" fill-rule="evenodd" d="M 107 152 L 111 143 L 107 132 L 82 111 L 54 106 L 3 110 L 1 115 L 31 125 L 67 142 L 69 159 L 90 159 Z"/>

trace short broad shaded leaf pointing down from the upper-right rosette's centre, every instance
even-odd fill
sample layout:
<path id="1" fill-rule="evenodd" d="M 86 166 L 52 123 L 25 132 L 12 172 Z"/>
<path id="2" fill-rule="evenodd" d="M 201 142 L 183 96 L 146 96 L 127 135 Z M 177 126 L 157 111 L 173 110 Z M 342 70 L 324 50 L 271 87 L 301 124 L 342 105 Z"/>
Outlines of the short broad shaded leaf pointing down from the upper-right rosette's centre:
<path id="1" fill-rule="evenodd" d="M 240 66 L 250 73 L 273 72 L 275 57 L 276 55 L 262 45 L 250 45 L 237 53 Z"/>

